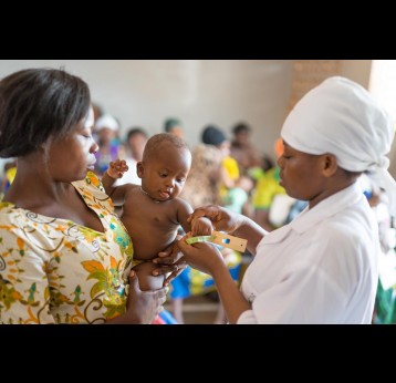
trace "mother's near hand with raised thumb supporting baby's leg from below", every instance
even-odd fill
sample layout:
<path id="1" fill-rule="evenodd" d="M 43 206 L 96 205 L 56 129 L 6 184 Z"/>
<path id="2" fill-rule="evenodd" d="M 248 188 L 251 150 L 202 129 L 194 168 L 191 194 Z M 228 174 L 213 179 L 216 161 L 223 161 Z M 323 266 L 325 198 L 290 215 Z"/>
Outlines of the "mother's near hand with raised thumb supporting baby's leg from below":
<path id="1" fill-rule="evenodd" d="M 110 324 L 150 324 L 163 311 L 168 288 L 142 291 L 135 271 L 129 275 L 129 294 L 126 302 L 126 312 L 123 315 L 107 321 Z"/>

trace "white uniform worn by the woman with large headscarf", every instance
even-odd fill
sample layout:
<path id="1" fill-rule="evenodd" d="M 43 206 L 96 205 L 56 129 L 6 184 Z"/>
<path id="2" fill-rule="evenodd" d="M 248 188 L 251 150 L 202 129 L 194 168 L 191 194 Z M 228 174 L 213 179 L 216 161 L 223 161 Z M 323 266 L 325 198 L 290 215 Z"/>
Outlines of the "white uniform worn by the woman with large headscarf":
<path id="1" fill-rule="evenodd" d="M 378 255 L 374 214 L 354 184 L 259 242 L 241 287 L 252 310 L 238 323 L 371 323 Z"/>

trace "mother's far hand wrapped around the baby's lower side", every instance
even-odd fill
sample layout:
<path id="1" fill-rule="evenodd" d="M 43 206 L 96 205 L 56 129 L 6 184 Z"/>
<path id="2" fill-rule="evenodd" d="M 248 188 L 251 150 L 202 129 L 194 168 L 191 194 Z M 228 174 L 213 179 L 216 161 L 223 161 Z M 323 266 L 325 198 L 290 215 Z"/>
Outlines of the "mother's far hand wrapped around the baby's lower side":
<path id="1" fill-rule="evenodd" d="M 178 247 L 178 240 L 180 238 L 181 236 L 177 236 L 170 246 L 164 251 L 158 252 L 158 258 L 153 259 L 153 262 L 158 265 L 158 268 L 153 270 L 153 276 L 161 276 L 170 272 L 165 279 L 164 286 L 168 286 L 169 282 L 187 267 L 186 261 L 184 259 L 181 260 L 183 252 Z"/>

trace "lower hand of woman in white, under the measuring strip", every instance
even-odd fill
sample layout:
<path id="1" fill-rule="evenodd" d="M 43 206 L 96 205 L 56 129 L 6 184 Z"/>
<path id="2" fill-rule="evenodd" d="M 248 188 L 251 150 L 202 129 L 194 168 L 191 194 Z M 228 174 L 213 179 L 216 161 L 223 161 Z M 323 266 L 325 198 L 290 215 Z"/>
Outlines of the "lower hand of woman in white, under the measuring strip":
<path id="1" fill-rule="evenodd" d="M 179 249 L 183 251 L 183 259 L 187 261 L 192 268 L 213 275 L 220 268 L 227 268 L 221 252 L 211 244 L 197 242 L 188 245 L 187 235 L 178 242 Z"/>

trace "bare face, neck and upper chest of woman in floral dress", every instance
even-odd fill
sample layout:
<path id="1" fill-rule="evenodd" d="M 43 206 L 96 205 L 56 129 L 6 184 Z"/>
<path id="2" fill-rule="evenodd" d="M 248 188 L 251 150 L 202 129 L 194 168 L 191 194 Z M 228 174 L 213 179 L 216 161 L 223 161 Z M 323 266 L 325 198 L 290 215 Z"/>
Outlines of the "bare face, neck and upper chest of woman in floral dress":
<path id="1" fill-rule="evenodd" d="M 100 218 L 70 184 L 84 179 L 86 168 L 95 162 L 97 145 L 91 137 L 91 127 L 84 126 L 82 121 L 67 137 L 46 146 L 50 158 L 48 164 L 44 159 L 44 147 L 18 158 L 17 176 L 4 200 L 41 215 L 70 219 L 103 232 Z"/>

